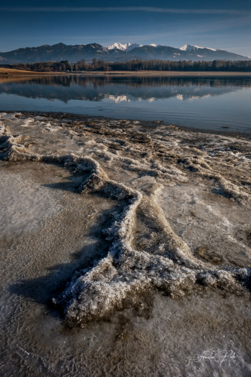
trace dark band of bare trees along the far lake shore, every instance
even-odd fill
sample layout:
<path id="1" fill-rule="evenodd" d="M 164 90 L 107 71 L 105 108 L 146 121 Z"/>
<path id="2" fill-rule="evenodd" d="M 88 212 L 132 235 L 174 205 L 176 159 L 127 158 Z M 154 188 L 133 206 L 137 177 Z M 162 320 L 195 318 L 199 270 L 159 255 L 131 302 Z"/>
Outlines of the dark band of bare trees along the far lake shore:
<path id="1" fill-rule="evenodd" d="M 251 60 L 141 60 L 134 59 L 126 62 L 105 62 L 104 60 L 92 59 L 86 62 L 81 59 L 75 63 L 68 60 L 60 62 L 45 61 L 38 63 L 1 64 L 3 68 L 14 68 L 34 72 L 79 72 L 79 71 L 229 71 L 250 72 Z"/>

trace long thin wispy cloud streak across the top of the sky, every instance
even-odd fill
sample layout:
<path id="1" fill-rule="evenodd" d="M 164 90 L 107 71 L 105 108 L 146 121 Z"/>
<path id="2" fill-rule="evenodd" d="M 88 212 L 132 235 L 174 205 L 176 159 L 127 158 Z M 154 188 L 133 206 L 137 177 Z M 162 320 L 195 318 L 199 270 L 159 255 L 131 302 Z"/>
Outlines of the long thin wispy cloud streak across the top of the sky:
<path id="1" fill-rule="evenodd" d="M 232 9 L 176 9 L 155 7 L 0 7 L 6 12 L 151 12 L 151 13 L 190 13 L 190 14 L 224 14 L 251 15 L 251 11 Z"/>

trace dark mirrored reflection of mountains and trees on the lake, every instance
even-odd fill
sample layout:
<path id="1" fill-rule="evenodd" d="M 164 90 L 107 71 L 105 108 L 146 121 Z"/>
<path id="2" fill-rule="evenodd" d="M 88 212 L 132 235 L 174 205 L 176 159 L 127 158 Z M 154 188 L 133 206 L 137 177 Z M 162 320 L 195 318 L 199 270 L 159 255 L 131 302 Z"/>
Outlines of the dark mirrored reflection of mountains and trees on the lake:
<path id="1" fill-rule="evenodd" d="M 24 81 L 0 84 L 0 93 L 26 98 L 95 101 L 115 103 L 175 97 L 185 101 L 219 96 L 227 92 L 251 87 L 250 77 L 170 77 L 170 76 L 40 76 Z"/>

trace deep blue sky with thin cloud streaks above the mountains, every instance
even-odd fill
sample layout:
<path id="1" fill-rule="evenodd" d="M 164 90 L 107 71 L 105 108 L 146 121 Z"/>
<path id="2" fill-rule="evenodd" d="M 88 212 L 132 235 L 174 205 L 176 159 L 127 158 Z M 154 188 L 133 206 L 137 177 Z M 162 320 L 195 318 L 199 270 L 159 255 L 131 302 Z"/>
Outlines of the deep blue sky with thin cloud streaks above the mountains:
<path id="1" fill-rule="evenodd" d="M 46 43 L 184 44 L 251 56 L 247 0 L 13 0 L 0 3 L 0 51 Z"/>

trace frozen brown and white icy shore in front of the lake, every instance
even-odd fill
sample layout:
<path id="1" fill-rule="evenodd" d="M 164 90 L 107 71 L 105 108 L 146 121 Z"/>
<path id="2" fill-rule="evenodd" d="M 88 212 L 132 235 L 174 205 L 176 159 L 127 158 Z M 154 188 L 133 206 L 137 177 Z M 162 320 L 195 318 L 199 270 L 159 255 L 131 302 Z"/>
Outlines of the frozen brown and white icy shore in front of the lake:
<path id="1" fill-rule="evenodd" d="M 250 372 L 250 140 L 66 114 L 0 132 L 6 375 Z M 203 346 L 236 360 L 188 362 Z"/>

